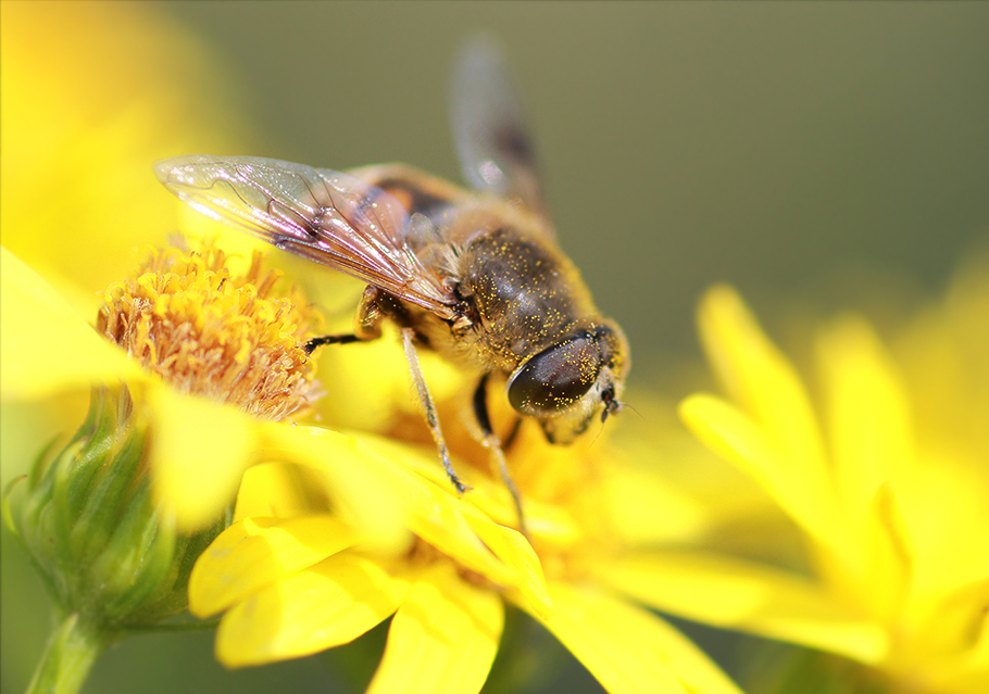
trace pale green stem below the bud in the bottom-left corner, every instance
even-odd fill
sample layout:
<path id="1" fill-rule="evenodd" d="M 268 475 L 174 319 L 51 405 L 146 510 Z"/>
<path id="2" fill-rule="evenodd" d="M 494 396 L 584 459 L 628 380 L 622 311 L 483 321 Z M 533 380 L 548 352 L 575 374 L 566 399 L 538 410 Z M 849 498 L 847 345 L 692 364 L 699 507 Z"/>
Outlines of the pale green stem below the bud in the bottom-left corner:
<path id="1" fill-rule="evenodd" d="M 78 613 L 52 632 L 26 694 L 75 694 L 111 639 L 80 622 Z"/>

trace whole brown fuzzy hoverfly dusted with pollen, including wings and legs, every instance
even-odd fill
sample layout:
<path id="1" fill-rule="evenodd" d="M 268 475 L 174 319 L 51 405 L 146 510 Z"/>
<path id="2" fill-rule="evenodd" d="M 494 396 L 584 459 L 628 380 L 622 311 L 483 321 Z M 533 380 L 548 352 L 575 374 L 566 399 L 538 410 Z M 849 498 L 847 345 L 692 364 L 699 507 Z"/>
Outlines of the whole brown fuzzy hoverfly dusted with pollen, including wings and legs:
<path id="1" fill-rule="evenodd" d="M 397 324 L 459 493 L 467 487 L 450 463 L 416 350 L 433 350 L 476 375 L 481 443 L 524 530 L 522 502 L 489 416 L 492 383 L 517 413 L 516 428 L 534 419 L 551 443 L 571 443 L 596 416 L 603 422 L 622 408 L 628 344 L 556 243 L 501 52 L 490 42 L 468 43 L 450 93 L 458 155 L 473 190 L 403 164 L 340 173 L 193 154 L 159 162 L 155 173 L 199 212 L 367 282 L 353 333 L 316 338 L 306 349 L 374 340 L 384 320 Z"/>

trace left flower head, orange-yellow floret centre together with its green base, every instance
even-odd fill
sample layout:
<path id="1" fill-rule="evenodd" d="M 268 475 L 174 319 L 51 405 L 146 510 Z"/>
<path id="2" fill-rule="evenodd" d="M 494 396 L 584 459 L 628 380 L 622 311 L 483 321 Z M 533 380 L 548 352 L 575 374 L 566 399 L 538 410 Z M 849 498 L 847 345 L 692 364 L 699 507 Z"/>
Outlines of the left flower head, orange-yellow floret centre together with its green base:
<path id="1" fill-rule="evenodd" d="M 154 489 L 152 449 L 163 434 L 142 394 L 167 388 L 277 420 L 304 411 L 314 392 L 303 345 L 320 317 L 297 291 L 278 291 L 261 254 L 242 274 L 227 261 L 211 243 L 154 251 L 107 291 L 97 330 L 148 377 L 93 387 L 72 440 L 54 456 L 49 446 L 4 497 L 5 520 L 60 617 L 103 641 L 186 611 L 192 565 L 230 516 L 221 503 L 204 525 L 176 525 Z"/>

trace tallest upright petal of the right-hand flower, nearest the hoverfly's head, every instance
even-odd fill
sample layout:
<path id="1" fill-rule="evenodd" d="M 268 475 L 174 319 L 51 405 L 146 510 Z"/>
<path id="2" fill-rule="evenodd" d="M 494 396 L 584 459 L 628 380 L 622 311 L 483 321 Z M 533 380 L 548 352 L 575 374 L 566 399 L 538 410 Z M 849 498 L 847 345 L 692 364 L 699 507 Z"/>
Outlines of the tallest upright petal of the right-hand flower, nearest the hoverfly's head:
<path id="1" fill-rule="evenodd" d="M 774 454 L 763 462 L 766 479 L 790 497 L 788 506 L 804 509 L 815 537 L 826 537 L 837 516 L 832 482 L 810 398 L 792 365 L 730 288 L 708 292 L 699 320 L 713 368 Z"/>

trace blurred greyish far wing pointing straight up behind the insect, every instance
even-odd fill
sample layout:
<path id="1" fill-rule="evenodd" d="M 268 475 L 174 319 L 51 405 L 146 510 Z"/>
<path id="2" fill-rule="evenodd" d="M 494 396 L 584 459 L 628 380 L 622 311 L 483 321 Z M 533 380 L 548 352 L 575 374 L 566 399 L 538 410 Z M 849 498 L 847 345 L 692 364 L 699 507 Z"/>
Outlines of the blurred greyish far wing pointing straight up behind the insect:
<path id="1" fill-rule="evenodd" d="M 464 177 L 477 190 L 516 198 L 546 216 L 536 151 L 498 45 L 481 36 L 464 46 L 450 87 Z"/>

